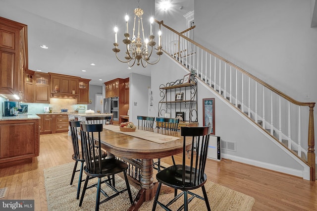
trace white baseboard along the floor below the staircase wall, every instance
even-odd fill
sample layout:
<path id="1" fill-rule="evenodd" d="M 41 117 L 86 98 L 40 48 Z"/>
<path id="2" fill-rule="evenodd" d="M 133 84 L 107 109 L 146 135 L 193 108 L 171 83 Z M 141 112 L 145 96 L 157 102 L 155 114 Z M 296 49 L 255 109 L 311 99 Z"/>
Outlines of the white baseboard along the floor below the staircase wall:
<path id="1" fill-rule="evenodd" d="M 241 158 L 241 157 L 232 156 L 232 155 L 223 154 L 223 153 L 222 153 L 221 157 L 225 158 L 225 159 L 231 159 L 231 160 L 246 163 L 249 165 L 254 165 L 257 167 L 273 170 L 273 171 L 278 171 L 278 172 L 285 173 L 285 174 L 298 176 L 298 177 L 301 177 L 301 178 L 306 179 L 306 180 L 310 180 L 310 169 L 309 168 L 305 168 L 304 170 L 298 170 L 298 169 L 288 168 L 288 167 L 279 166 L 279 165 L 266 163 L 266 162 L 261 162 L 261 161 L 257 161 L 257 160 L 252 160 L 252 159 L 248 159 L 248 158 Z"/>

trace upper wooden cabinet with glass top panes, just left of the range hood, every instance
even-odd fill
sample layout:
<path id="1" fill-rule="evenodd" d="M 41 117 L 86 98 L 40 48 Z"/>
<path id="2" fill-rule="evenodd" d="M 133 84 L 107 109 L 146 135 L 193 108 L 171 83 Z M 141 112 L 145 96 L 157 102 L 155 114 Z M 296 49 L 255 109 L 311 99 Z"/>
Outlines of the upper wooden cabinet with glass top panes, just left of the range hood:
<path id="1" fill-rule="evenodd" d="M 50 103 L 50 75 L 35 73 L 35 103 Z"/>

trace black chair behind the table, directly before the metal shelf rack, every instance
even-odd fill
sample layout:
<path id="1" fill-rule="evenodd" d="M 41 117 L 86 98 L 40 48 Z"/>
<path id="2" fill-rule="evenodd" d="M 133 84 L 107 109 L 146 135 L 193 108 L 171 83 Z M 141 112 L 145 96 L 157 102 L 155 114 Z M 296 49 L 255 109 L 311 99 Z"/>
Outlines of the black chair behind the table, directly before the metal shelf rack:
<path id="1" fill-rule="evenodd" d="M 177 131 L 179 119 L 156 117 L 156 122 L 157 122 L 157 128 L 159 129 Z M 175 159 L 173 156 L 171 157 L 172 157 L 173 164 L 175 165 Z M 158 159 L 158 162 L 154 164 L 158 165 L 158 171 L 160 171 L 160 167 L 165 168 L 164 166 L 160 165 L 160 158 Z"/>

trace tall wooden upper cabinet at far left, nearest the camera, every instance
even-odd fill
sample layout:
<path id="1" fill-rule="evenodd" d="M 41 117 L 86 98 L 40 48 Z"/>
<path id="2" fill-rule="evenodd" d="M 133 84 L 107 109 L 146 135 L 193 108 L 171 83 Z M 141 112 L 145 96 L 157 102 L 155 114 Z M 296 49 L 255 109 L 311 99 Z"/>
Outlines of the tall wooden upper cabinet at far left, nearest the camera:
<path id="1" fill-rule="evenodd" d="M 27 25 L 0 17 L 0 93 L 23 93 L 27 69 Z"/>

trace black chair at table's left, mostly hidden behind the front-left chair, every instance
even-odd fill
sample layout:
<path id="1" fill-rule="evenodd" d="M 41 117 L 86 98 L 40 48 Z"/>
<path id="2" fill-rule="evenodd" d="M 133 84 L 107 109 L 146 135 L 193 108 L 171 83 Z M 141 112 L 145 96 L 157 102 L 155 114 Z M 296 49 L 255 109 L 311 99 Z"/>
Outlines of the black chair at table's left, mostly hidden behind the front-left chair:
<path id="1" fill-rule="evenodd" d="M 75 173 L 79 171 L 79 178 L 78 178 L 78 185 L 77 185 L 77 196 L 76 196 L 76 199 L 79 199 L 80 186 L 81 186 L 82 175 L 83 175 L 83 167 L 84 167 L 84 162 L 85 162 L 82 147 L 79 147 L 79 143 L 78 143 L 77 128 L 80 128 L 80 121 L 69 121 L 69 127 L 70 127 L 71 141 L 72 141 L 73 152 L 74 152 L 74 154 L 72 155 L 71 158 L 73 160 L 75 160 L 75 165 L 74 165 L 73 173 L 71 175 L 70 184 L 71 185 L 73 184 Z M 80 169 L 76 170 L 78 162 L 81 163 Z"/>

